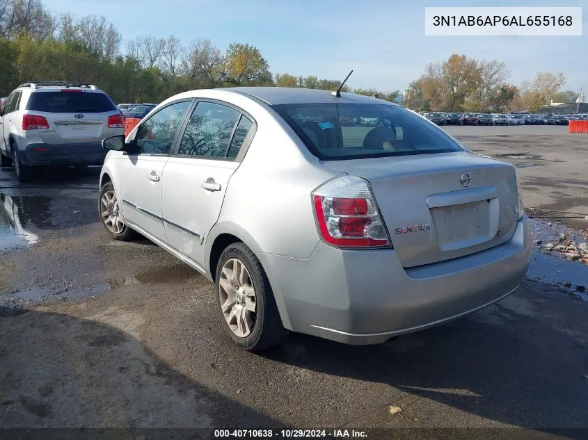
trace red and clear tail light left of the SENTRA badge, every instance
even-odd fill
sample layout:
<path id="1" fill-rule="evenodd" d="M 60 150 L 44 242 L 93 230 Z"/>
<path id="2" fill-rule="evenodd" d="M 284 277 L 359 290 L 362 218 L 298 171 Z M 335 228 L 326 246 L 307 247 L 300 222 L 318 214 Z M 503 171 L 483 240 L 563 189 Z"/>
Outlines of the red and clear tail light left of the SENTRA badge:
<path id="1" fill-rule="evenodd" d="M 337 247 L 389 247 L 384 227 L 367 181 L 343 176 L 312 193 L 317 226 L 326 243 Z"/>

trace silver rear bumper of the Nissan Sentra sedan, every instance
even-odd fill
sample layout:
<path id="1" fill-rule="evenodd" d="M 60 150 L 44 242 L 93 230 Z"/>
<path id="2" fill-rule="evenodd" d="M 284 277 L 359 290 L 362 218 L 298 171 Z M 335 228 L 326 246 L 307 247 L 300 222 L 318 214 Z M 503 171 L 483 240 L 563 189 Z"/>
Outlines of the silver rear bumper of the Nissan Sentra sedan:
<path id="1" fill-rule="evenodd" d="M 258 254 L 280 315 L 294 332 L 351 344 L 381 343 L 459 318 L 516 290 L 531 257 L 527 219 L 503 245 L 402 268 L 394 250 L 339 250 L 309 259 Z"/>

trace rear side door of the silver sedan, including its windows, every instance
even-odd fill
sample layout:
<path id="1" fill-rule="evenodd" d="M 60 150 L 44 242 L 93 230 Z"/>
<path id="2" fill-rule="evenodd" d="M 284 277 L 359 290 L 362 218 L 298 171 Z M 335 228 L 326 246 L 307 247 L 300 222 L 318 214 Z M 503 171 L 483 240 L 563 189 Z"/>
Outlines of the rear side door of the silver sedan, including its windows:
<path id="1" fill-rule="evenodd" d="M 255 134 L 253 117 L 199 101 L 164 169 L 161 205 L 168 244 L 204 266 L 204 243 L 225 191 Z"/>

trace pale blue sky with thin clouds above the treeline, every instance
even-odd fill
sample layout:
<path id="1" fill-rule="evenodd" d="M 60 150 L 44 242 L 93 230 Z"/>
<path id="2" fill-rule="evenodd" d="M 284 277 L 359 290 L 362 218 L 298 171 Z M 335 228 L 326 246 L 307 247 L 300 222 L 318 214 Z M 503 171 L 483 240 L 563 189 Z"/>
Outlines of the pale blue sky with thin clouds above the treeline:
<path id="1" fill-rule="evenodd" d="M 254 44 L 271 72 L 344 79 L 355 88 L 404 90 L 451 54 L 504 61 L 520 85 L 563 72 L 564 90 L 588 87 L 588 0 L 44 0 L 55 12 L 104 15 L 122 33 L 208 38 L 221 51 Z M 279 3 L 279 4 L 278 4 Z M 425 6 L 582 6 L 581 37 L 426 37 Z"/>

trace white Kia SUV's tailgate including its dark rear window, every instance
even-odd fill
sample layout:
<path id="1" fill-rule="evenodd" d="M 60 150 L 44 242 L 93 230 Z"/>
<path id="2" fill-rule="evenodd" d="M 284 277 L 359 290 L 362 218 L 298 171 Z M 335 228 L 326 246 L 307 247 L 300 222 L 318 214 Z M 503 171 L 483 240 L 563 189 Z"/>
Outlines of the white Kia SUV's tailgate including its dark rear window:
<path id="1" fill-rule="evenodd" d="M 120 113 L 100 90 L 38 89 L 31 93 L 26 110 L 49 122 L 49 129 L 38 130 L 42 141 L 49 145 L 100 143 L 121 134 L 120 126 L 109 127 L 109 117 Z"/>

